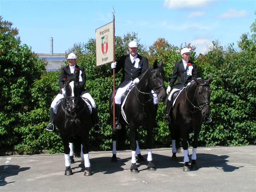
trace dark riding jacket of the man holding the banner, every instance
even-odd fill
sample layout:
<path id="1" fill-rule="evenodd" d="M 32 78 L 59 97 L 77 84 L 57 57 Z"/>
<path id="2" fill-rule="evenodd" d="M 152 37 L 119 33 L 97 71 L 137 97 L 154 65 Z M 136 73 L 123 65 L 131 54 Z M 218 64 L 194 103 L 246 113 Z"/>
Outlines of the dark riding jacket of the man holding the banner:
<path id="1" fill-rule="evenodd" d="M 135 68 L 135 61 L 132 63 L 130 59 L 130 54 L 120 57 L 119 61 L 116 64 L 115 72 L 119 72 L 122 69 L 123 77 L 121 80 L 120 87 L 126 85 L 129 81 L 133 81 L 136 78 L 141 78 L 142 74 L 149 68 L 148 59 L 146 57 L 140 56 L 138 54 L 139 68 Z"/>

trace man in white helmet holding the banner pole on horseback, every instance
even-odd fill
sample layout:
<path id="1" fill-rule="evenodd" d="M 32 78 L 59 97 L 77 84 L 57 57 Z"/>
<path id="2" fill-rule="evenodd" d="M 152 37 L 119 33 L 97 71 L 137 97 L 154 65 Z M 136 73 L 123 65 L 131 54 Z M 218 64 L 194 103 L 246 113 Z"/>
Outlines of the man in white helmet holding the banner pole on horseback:
<path id="1" fill-rule="evenodd" d="M 111 63 L 111 69 L 115 69 L 115 72 L 119 72 L 122 69 L 122 80 L 115 95 L 115 130 L 121 129 L 119 123 L 119 115 L 121 111 L 121 97 L 123 93 L 129 89 L 130 85 L 137 84 L 142 77 L 142 74 L 149 68 L 148 59 L 140 56 L 137 53 L 137 42 L 131 41 L 129 43 L 129 55 L 120 57 L 116 63 Z M 158 98 L 154 97 L 154 104 L 158 105 Z"/>

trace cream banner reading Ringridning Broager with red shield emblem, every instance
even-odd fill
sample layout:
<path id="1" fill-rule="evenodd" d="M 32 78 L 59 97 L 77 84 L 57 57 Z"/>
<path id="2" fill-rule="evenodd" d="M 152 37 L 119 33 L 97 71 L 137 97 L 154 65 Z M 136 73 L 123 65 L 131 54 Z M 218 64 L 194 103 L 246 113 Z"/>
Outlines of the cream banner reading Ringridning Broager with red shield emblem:
<path id="1" fill-rule="evenodd" d="M 113 62 L 113 22 L 96 30 L 96 66 Z"/>

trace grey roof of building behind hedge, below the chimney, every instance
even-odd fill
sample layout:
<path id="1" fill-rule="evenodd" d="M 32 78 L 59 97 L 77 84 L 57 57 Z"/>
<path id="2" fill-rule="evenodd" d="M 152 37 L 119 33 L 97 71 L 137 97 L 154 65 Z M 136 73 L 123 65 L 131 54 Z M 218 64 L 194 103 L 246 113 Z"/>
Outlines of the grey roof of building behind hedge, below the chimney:
<path id="1" fill-rule="evenodd" d="M 66 54 L 65 53 L 37 53 L 38 59 L 46 62 L 46 72 L 59 71 L 60 68 L 65 66 Z"/>

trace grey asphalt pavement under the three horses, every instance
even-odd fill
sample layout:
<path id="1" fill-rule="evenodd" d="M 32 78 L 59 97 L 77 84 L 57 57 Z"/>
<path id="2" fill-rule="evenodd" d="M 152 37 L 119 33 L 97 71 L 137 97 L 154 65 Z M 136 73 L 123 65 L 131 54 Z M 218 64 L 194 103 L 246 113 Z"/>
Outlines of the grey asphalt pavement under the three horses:
<path id="1" fill-rule="evenodd" d="M 190 172 L 183 172 L 183 151 L 177 161 L 171 161 L 171 148 L 152 153 L 156 171 L 142 162 L 140 172 L 131 174 L 131 151 L 118 151 L 116 163 L 111 163 L 112 152 L 90 152 L 91 176 L 84 176 L 81 158 L 71 164 L 73 175 L 64 175 L 64 154 L 0 156 L 0 192 L 256 191 L 256 146 L 198 148 L 198 169 Z M 141 154 L 147 159 L 147 150 Z"/>

